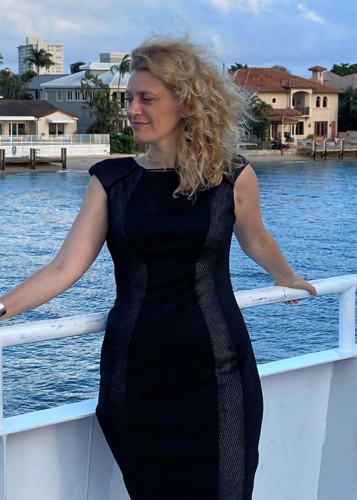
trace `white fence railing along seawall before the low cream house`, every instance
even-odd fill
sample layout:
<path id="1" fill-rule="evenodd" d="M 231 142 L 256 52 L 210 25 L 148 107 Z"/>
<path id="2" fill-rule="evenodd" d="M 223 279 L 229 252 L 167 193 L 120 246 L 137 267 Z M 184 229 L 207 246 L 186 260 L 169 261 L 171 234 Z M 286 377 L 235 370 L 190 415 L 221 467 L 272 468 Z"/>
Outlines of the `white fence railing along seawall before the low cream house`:
<path id="1" fill-rule="evenodd" d="M 0 135 L 0 146 L 40 144 L 109 144 L 109 134 Z"/>

